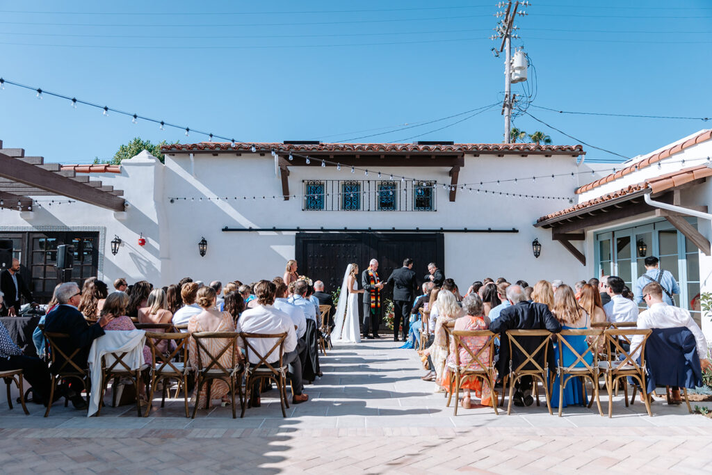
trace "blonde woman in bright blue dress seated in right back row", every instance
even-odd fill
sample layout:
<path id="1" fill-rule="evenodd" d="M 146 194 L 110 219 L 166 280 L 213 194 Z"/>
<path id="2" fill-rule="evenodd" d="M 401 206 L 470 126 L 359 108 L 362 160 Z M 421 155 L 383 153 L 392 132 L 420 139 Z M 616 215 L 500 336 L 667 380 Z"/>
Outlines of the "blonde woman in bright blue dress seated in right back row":
<path id="1" fill-rule="evenodd" d="M 559 323 L 561 323 L 562 330 L 586 330 L 589 328 L 590 322 L 588 313 L 586 313 L 586 311 L 579 306 L 576 301 L 574 291 L 567 285 L 557 287 L 556 292 L 554 293 L 554 305 L 551 309 L 551 313 L 553 313 L 554 317 L 559 321 Z M 558 338 L 564 337 L 559 335 Z M 588 349 L 586 337 L 583 335 L 567 336 L 565 338 L 567 343 L 569 343 L 579 355 L 582 355 Z M 564 367 L 573 365 L 577 360 L 577 355 L 575 355 L 566 345 L 562 343 L 555 343 L 553 346 L 557 365 L 559 363 L 560 351 L 563 352 Z M 593 362 L 592 353 L 587 353 L 583 359 L 591 365 Z M 585 365 L 583 362 L 579 361 L 575 367 L 585 367 Z M 572 377 L 566 382 L 566 385 L 564 386 L 562 407 L 570 405 L 585 406 L 588 404 L 586 386 L 584 382 L 585 380 L 582 377 Z M 556 375 L 554 378 L 554 384 L 551 388 L 552 407 L 558 407 L 559 405 L 560 386 L 561 382 L 559 380 L 559 375 Z"/>

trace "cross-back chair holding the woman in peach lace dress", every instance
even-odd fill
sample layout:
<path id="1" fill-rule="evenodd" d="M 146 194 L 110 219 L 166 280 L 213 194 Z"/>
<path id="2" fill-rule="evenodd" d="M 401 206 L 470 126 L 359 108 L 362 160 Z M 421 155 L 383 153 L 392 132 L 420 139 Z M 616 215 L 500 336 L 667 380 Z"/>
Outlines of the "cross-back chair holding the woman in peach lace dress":
<path id="1" fill-rule="evenodd" d="M 205 408 L 210 407 L 210 389 L 213 380 L 222 380 L 228 385 L 231 402 L 232 402 L 232 418 L 237 417 L 235 408 L 235 392 L 238 393 L 240 407 L 245 410 L 245 401 L 242 397 L 242 373 L 243 365 L 240 363 L 240 350 L 237 348 L 237 338 L 239 333 L 235 332 L 195 332 L 191 336 L 195 340 L 198 367 L 194 368 L 197 375 L 197 394 L 200 394 L 201 387 L 207 382 L 208 390 L 206 395 Z M 215 355 L 209 352 L 205 347 L 203 340 L 224 340 L 222 346 Z M 230 364 L 222 365 L 220 358 L 228 350 L 231 351 Z M 198 413 L 198 401 L 196 400 L 193 407 L 193 419 Z"/>

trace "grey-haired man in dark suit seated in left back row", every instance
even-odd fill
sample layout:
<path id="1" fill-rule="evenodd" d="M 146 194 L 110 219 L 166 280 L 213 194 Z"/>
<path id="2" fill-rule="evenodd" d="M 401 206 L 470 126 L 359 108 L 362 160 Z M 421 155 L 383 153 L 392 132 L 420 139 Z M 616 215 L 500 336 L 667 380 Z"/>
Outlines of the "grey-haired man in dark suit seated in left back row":
<path id="1" fill-rule="evenodd" d="M 122 295 L 125 294 L 122 293 Z M 59 286 L 57 289 L 59 305 L 47 315 L 45 331 L 68 334 L 69 338 L 58 339 L 56 343 L 65 355 L 71 355 L 74 350 L 80 348 L 72 361 L 78 367 L 85 368 L 88 366 L 87 357 L 92 342 L 104 334 L 104 327 L 111 322 L 113 315 L 101 315 L 97 323 L 89 325 L 84 315 L 77 309 L 80 298 L 81 292 L 75 282 L 67 282 Z M 52 372 L 57 372 L 66 361 L 59 353 L 55 355 L 55 358 L 54 364 L 49 368 Z M 80 392 L 76 392 L 71 387 L 69 390 L 65 388 L 63 392 L 66 392 L 76 409 L 86 409 L 86 402 L 82 399 Z"/>

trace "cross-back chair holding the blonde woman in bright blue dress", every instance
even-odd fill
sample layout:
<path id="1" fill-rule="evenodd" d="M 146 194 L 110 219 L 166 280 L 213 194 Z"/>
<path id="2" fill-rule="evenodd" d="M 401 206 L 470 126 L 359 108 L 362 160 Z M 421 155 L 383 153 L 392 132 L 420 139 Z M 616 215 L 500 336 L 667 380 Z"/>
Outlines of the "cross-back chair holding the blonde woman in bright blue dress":
<path id="1" fill-rule="evenodd" d="M 587 348 L 582 353 L 579 353 L 571 343 L 566 339 L 566 337 L 593 337 L 592 343 L 587 345 Z M 569 380 L 574 377 L 582 377 L 582 385 L 585 387 L 586 380 L 590 380 L 593 385 L 593 395 L 588 407 L 593 405 L 593 400 L 596 400 L 598 406 L 599 414 L 603 415 L 603 410 L 601 409 L 601 401 L 598 392 L 598 377 L 599 377 L 599 367 L 598 367 L 598 353 L 596 348 L 600 339 L 604 338 L 602 330 L 561 330 L 561 333 L 557 334 L 557 341 L 559 343 L 559 361 L 557 367 L 557 374 L 559 375 L 559 417 L 561 417 L 561 412 L 564 405 L 564 387 L 566 387 Z M 570 353 L 575 357 L 575 361 L 570 365 L 564 366 L 564 353 Z M 591 355 L 592 362 L 586 361 L 586 356 Z M 551 388 L 555 391 L 556 388 Z"/>

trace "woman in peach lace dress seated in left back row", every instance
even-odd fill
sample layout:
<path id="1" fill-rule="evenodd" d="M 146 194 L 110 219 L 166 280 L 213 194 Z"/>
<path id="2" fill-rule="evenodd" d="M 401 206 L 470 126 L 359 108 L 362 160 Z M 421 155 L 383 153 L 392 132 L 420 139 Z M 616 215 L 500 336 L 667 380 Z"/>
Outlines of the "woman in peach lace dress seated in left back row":
<path id="1" fill-rule="evenodd" d="M 190 284 L 189 284 L 190 285 Z M 196 283 L 192 285 L 197 286 Z M 197 291 L 197 304 L 200 306 L 201 311 L 197 315 L 192 315 L 188 320 L 188 332 L 233 332 L 235 331 L 235 320 L 232 318 L 229 312 L 224 312 L 216 309 L 215 301 L 217 294 L 214 288 L 209 286 L 203 286 Z M 226 340 L 224 338 L 211 338 L 206 340 L 201 340 L 201 345 L 206 347 L 206 350 L 213 356 L 217 356 L 219 352 L 224 348 Z M 203 350 L 201 350 L 203 351 Z M 226 369 L 233 364 L 233 350 L 227 350 L 225 353 L 220 355 L 218 362 Z M 190 359 L 190 364 L 192 367 L 198 367 L 198 348 L 197 343 L 195 343 L 194 338 L 188 340 L 188 355 Z M 202 353 L 201 353 L 202 354 Z M 208 357 L 202 358 L 203 365 L 207 365 L 209 361 Z M 236 360 L 237 361 L 237 360 Z M 205 403 L 208 402 L 209 407 L 212 407 L 213 400 L 221 400 L 221 402 L 230 402 L 229 392 L 230 388 L 226 382 L 223 380 L 213 380 L 208 385 L 203 385 L 200 393 L 198 394 L 198 388 L 196 387 L 193 392 L 193 403 L 198 404 L 198 407 L 205 407 Z M 210 388 L 210 401 L 206 401 L 208 397 L 208 387 Z"/>

